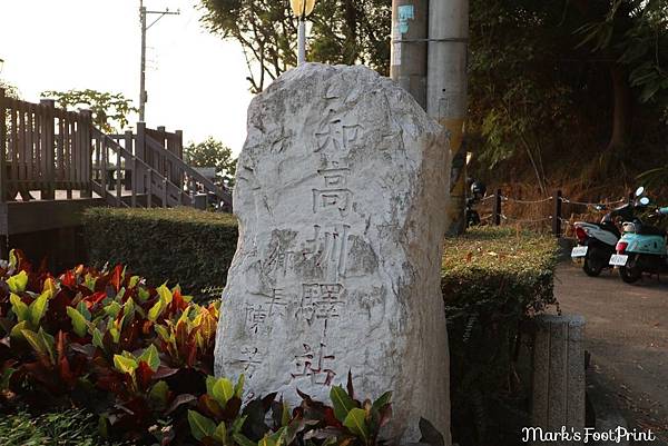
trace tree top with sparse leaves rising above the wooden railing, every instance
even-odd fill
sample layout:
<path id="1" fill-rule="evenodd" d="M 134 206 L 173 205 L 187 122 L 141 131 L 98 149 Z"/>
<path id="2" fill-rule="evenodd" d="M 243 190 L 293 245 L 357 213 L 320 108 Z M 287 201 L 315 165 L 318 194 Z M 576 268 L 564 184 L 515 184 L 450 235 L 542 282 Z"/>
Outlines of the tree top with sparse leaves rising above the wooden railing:
<path id="1" fill-rule="evenodd" d="M 88 108 L 92 112 L 92 122 L 106 133 L 122 131 L 128 125 L 128 116 L 138 110 L 132 101 L 122 93 L 109 93 L 97 90 L 43 91 L 42 98 L 56 99 L 56 105 L 68 110 Z"/>

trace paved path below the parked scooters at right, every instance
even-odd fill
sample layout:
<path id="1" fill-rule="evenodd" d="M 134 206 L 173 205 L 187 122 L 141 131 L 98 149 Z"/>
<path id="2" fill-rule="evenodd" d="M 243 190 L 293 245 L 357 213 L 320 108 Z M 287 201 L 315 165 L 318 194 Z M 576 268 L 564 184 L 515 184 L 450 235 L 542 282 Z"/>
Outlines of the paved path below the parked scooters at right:
<path id="1" fill-rule="evenodd" d="M 651 444 L 668 445 L 668 276 L 628 285 L 616 272 L 591 278 L 564 262 L 554 287 L 564 314 L 587 318 L 590 367 L 629 428 L 660 430 Z"/>

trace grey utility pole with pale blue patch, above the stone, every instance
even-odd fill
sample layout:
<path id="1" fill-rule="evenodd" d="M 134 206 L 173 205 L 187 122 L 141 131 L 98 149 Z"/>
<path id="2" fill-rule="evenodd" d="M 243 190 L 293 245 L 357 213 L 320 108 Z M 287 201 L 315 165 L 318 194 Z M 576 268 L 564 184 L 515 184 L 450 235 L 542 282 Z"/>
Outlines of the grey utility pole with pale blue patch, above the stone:
<path id="1" fill-rule="evenodd" d="M 390 77 L 426 110 L 429 0 L 393 0 Z"/>

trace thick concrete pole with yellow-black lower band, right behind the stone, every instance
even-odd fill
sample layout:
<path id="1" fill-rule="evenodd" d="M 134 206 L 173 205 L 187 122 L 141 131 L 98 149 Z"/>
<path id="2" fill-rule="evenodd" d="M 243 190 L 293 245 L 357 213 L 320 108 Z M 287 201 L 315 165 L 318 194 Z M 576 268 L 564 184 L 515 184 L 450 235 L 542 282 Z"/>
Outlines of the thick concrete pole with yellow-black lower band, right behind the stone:
<path id="1" fill-rule="evenodd" d="M 448 234 L 465 228 L 466 48 L 469 0 L 431 0 L 429 6 L 428 113 L 450 132 L 450 205 Z"/>

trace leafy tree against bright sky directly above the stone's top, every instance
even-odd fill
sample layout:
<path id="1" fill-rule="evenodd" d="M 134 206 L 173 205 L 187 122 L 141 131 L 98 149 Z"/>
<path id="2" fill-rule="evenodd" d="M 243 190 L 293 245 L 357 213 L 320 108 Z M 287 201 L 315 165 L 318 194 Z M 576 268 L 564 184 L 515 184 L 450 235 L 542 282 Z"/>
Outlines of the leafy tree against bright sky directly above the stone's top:
<path id="1" fill-rule="evenodd" d="M 203 23 L 224 39 L 242 44 L 248 66 L 250 91 L 295 67 L 297 20 L 287 0 L 200 0 Z M 365 63 L 383 75 L 390 66 L 389 0 L 320 1 L 308 20 L 313 23 L 311 61 Z M 258 69 L 254 69 L 257 63 Z"/>

